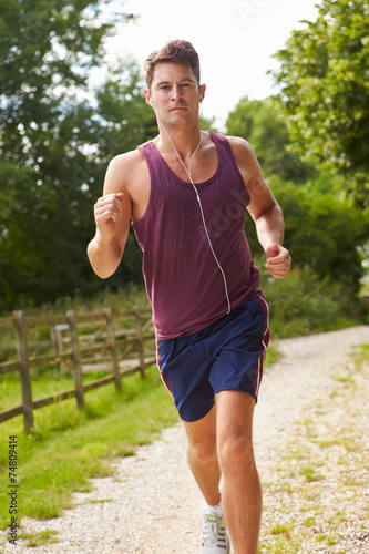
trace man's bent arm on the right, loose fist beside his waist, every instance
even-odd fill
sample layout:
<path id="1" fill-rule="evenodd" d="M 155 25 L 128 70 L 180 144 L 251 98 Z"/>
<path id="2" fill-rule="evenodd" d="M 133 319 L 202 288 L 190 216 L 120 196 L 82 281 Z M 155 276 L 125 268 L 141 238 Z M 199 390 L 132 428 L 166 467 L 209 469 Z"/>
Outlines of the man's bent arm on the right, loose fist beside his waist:
<path id="1" fill-rule="evenodd" d="M 283 212 L 263 177 L 250 145 L 244 138 L 228 140 L 250 195 L 247 209 L 255 222 L 258 240 L 265 250 L 265 267 L 273 277 L 283 279 L 289 271 L 291 263 L 289 252 L 283 246 L 285 233 Z"/>

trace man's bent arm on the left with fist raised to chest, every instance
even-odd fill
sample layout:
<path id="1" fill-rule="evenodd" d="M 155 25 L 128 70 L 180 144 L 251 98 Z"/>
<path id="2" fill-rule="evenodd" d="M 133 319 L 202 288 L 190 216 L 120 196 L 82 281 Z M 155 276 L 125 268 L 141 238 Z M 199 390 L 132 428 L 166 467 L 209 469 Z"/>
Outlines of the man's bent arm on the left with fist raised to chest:
<path id="1" fill-rule="evenodd" d="M 124 175 L 124 156 L 114 157 L 106 171 L 103 196 L 94 205 L 96 233 L 88 246 L 88 256 L 95 274 L 106 279 L 116 270 L 130 230 L 131 197 Z"/>

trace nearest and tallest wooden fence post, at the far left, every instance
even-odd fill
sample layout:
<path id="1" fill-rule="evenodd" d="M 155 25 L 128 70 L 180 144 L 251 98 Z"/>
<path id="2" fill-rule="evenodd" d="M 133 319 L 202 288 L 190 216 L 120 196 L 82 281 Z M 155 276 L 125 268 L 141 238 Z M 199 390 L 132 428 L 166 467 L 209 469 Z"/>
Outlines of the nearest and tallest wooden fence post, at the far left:
<path id="1" fill-rule="evenodd" d="M 14 311 L 14 326 L 17 330 L 17 352 L 19 362 L 19 376 L 21 382 L 23 420 L 25 432 L 33 429 L 33 406 L 30 366 L 28 361 L 28 340 L 24 311 Z"/>

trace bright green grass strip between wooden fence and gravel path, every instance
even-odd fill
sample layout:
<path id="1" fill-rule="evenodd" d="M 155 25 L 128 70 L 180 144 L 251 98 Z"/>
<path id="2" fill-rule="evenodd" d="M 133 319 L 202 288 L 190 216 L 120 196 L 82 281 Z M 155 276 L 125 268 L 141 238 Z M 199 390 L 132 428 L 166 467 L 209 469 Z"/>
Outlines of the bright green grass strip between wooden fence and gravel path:
<path id="1" fill-rule="evenodd" d="M 75 399 L 35 410 L 34 431 L 28 434 L 21 417 L 0 425 L 2 529 L 9 524 L 9 435 L 18 442 L 19 519 L 50 519 L 71 505 L 74 491 L 89 491 L 91 478 L 111 474 L 109 461 L 134 454 L 137 445 L 178 420 L 156 368 L 144 380 L 139 375 L 125 378 L 122 392 L 113 384 L 88 392 L 85 404 L 82 412 Z"/>

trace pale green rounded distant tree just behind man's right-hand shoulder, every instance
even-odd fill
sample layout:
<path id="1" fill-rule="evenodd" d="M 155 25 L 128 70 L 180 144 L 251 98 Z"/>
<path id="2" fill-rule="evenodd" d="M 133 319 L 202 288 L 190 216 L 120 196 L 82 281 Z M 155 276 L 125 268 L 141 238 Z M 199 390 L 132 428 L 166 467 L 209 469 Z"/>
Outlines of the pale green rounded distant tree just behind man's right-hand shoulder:
<path id="1" fill-rule="evenodd" d="M 279 99 L 240 99 L 229 112 L 227 134 L 243 136 L 253 146 L 267 177 L 279 175 L 286 181 L 304 183 L 316 175 L 314 166 L 290 152 L 290 138 Z"/>

